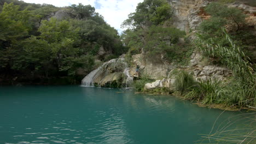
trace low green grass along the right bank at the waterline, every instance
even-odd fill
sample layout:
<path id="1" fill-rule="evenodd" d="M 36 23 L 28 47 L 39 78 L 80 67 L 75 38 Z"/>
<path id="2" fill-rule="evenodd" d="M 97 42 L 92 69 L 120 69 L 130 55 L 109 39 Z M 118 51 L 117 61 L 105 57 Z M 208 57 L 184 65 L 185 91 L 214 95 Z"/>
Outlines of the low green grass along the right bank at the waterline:
<path id="1" fill-rule="evenodd" d="M 184 95 L 185 99 L 201 100 L 202 104 L 223 104 L 226 106 L 256 106 L 254 85 L 242 84 L 233 79 L 223 83 L 219 80 L 205 80 L 197 83 Z"/>

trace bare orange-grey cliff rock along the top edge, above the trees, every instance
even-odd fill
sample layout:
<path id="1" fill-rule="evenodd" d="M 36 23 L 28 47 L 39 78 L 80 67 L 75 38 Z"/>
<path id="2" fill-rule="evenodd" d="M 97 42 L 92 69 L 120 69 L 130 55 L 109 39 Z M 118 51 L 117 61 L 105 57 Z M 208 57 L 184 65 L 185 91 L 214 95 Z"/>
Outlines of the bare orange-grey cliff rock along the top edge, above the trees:
<path id="1" fill-rule="evenodd" d="M 169 0 L 173 10 L 173 25 L 177 28 L 189 33 L 196 30 L 203 19 L 207 19 L 208 15 L 203 8 L 214 0 Z M 245 11 L 248 15 L 247 21 L 256 25 L 256 8 L 246 5 L 246 2 L 234 2 L 228 4 L 229 7 L 235 7 Z"/>

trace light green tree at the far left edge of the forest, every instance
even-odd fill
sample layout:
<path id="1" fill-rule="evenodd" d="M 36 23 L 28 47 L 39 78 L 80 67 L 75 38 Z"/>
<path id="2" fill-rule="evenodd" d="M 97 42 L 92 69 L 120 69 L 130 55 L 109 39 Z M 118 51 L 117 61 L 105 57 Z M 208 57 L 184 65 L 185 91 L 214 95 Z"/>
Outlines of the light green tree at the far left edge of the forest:
<path id="1" fill-rule="evenodd" d="M 19 10 L 19 5 L 4 3 L 0 13 L 0 67 L 7 71 L 13 66 L 13 58 L 19 55 L 19 40 L 28 37 L 30 17 L 28 10 Z"/>

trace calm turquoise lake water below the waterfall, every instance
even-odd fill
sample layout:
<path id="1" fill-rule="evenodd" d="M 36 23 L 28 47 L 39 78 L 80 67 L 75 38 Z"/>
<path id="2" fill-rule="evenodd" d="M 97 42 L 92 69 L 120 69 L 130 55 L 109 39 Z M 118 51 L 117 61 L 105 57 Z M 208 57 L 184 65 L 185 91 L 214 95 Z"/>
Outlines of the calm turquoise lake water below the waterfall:
<path id="1" fill-rule="evenodd" d="M 0 143 L 196 143 L 222 113 L 170 95 L 117 92 L 0 87 Z M 218 122 L 238 113 L 225 112 Z"/>

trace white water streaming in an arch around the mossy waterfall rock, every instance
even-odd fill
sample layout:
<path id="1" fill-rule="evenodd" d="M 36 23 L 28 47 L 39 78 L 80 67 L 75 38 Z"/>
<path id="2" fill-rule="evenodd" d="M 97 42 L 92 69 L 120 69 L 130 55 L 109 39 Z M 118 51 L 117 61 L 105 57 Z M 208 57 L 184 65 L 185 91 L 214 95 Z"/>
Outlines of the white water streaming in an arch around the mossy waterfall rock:
<path id="1" fill-rule="evenodd" d="M 90 74 L 86 75 L 84 77 L 84 79 L 82 80 L 82 86 L 86 86 L 86 87 L 93 87 L 94 86 L 94 80 L 97 78 L 98 75 L 100 75 L 102 73 L 102 71 L 104 71 L 104 68 L 108 67 L 108 64 L 112 64 L 112 63 L 116 63 L 116 62 L 120 62 L 123 63 L 125 65 L 125 69 L 123 71 L 123 73 L 126 75 L 126 83 L 125 83 L 125 87 L 130 87 L 131 83 L 133 82 L 133 77 L 131 77 L 130 73 L 129 73 L 129 67 L 128 64 L 124 61 L 124 58 L 115 58 L 115 59 L 111 59 L 108 62 L 105 62 L 101 65 L 101 67 L 98 67 L 97 69 L 91 71 Z M 98 84 L 101 84 L 98 83 Z"/>

